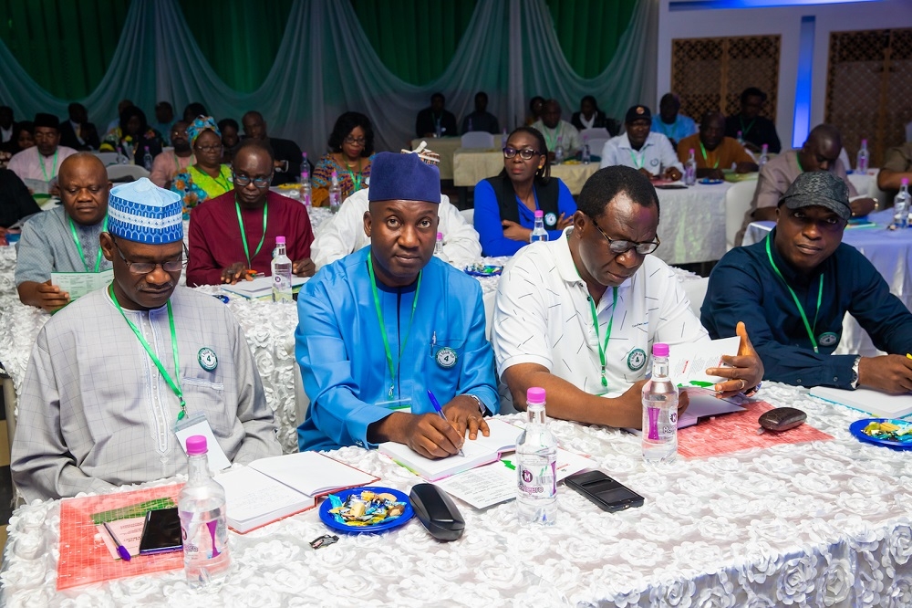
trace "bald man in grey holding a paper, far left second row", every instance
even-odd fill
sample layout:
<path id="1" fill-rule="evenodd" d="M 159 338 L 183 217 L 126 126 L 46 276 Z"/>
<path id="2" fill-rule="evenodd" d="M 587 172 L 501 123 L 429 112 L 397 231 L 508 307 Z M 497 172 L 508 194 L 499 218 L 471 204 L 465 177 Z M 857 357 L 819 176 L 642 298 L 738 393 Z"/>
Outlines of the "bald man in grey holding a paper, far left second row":
<path id="1" fill-rule="evenodd" d="M 69 294 L 51 285 L 52 272 L 100 272 L 111 267 L 98 246 L 108 217 L 109 189 L 104 163 L 89 152 L 78 152 L 60 165 L 63 205 L 22 226 L 15 280 L 23 304 L 53 312 L 67 306 Z"/>

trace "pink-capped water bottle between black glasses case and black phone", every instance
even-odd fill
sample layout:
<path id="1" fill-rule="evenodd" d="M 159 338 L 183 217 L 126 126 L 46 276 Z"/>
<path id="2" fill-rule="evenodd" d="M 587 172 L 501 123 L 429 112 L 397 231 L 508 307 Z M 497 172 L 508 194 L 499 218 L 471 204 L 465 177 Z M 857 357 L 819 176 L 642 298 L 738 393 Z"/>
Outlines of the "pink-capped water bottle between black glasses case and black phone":
<path id="1" fill-rule="evenodd" d="M 516 508 L 523 523 L 557 519 L 557 441 L 544 415 L 544 389 L 526 392 L 528 419 L 516 440 Z"/>

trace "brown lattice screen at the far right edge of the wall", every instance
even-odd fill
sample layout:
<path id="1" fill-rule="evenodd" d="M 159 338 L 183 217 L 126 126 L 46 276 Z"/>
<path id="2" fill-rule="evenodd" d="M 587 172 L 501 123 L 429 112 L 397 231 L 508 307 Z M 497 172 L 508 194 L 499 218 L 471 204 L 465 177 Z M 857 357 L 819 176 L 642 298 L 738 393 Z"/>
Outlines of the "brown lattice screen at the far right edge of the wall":
<path id="1" fill-rule="evenodd" d="M 833 32 L 824 120 L 843 135 L 849 158 L 867 139 L 872 166 L 906 141 L 912 121 L 912 29 Z"/>

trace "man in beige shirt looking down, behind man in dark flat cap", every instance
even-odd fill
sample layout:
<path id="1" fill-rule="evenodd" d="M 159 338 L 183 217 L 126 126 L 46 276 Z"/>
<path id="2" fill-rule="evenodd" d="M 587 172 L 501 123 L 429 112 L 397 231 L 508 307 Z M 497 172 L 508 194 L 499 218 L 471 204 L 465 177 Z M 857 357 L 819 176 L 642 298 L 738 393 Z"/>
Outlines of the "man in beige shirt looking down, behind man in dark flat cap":
<path id="1" fill-rule="evenodd" d="M 744 215 L 741 232 L 735 243 L 741 245 L 744 231 L 751 222 L 775 220 L 779 215 L 777 207 L 785 191 L 804 172 L 829 171 L 845 182 L 852 199 L 852 215 L 860 217 L 874 209 L 873 198 L 859 196 L 855 186 L 845 174 L 845 166 L 839 160 L 843 139 L 839 131 L 830 124 L 819 124 L 808 133 L 801 150 L 784 152 L 763 165 L 757 177 L 757 189 L 753 193 L 751 208 Z"/>

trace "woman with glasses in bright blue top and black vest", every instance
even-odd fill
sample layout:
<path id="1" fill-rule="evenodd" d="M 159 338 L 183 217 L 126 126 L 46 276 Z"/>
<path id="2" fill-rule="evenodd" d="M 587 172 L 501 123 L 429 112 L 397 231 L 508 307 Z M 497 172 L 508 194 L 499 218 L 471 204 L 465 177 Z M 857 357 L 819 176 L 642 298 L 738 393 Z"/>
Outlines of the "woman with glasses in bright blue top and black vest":
<path id="1" fill-rule="evenodd" d="M 512 256 L 528 245 L 539 209 L 554 240 L 572 224 L 576 204 L 565 183 L 551 177 L 542 132 L 519 127 L 503 148 L 503 171 L 475 186 L 474 224 L 482 255 Z"/>

